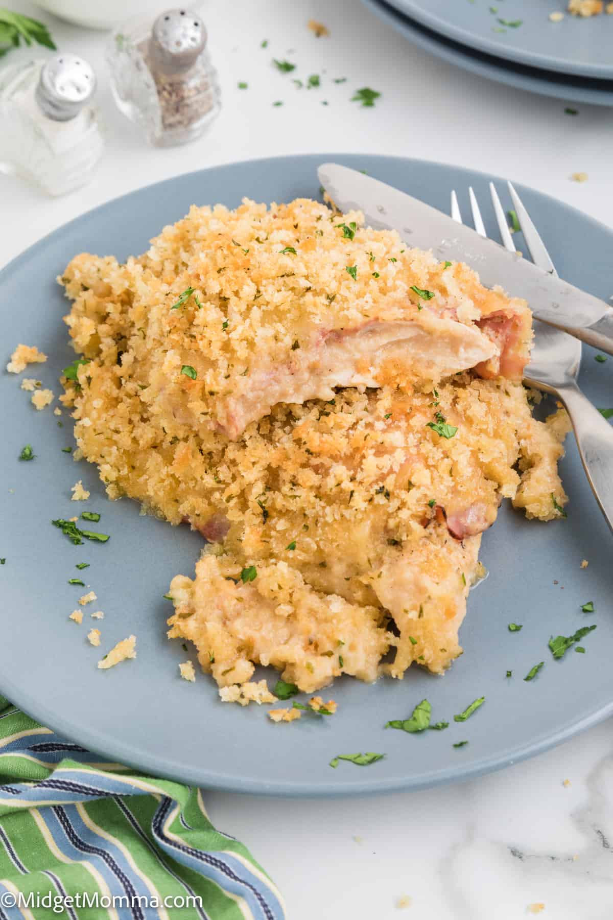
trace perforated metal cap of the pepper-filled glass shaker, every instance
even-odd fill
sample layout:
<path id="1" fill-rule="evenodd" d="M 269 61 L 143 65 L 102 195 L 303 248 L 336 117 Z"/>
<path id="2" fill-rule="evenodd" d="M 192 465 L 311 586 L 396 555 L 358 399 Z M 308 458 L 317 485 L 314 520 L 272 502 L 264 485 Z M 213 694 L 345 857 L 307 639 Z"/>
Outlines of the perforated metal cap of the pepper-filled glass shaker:
<path id="1" fill-rule="evenodd" d="M 196 62 L 207 44 L 207 30 L 188 9 L 169 9 L 153 23 L 149 56 L 154 70 L 181 74 Z"/>

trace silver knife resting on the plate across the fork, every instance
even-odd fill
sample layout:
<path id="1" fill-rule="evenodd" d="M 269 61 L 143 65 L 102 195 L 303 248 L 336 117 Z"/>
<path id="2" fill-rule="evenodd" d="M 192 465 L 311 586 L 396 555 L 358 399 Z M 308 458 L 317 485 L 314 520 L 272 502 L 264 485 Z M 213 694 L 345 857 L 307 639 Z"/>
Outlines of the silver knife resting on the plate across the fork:
<path id="1" fill-rule="evenodd" d="M 397 230 L 409 246 L 432 249 L 438 259 L 466 262 L 486 287 L 501 285 L 527 300 L 538 319 L 613 354 L 613 308 L 604 300 L 379 179 L 337 163 L 324 163 L 317 174 L 341 211 L 362 211 L 366 224 L 376 230 Z"/>

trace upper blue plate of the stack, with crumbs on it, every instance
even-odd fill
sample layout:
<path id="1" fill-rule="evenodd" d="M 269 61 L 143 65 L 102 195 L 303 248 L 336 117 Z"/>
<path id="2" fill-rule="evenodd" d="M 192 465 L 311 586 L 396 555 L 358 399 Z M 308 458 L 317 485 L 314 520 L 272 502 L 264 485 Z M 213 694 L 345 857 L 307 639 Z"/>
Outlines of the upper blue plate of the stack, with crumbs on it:
<path id="1" fill-rule="evenodd" d="M 505 0 L 494 6 L 490 0 L 390 3 L 427 29 L 474 51 L 566 75 L 613 79 L 613 18 L 567 13 L 562 22 L 551 22 L 550 13 L 564 12 L 566 0 Z"/>

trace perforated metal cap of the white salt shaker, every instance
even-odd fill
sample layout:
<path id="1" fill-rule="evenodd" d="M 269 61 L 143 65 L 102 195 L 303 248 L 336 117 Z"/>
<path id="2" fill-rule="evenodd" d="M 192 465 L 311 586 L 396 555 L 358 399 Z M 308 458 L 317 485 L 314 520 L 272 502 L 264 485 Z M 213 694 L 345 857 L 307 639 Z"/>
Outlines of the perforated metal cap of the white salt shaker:
<path id="1" fill-rule="evenodd" d="M 96 74 L 76 54 L 56 54 L 40 70 L 36 100 L 53 121 L 70 121 L 96 90 Z"/>

